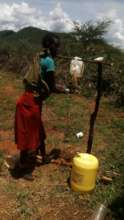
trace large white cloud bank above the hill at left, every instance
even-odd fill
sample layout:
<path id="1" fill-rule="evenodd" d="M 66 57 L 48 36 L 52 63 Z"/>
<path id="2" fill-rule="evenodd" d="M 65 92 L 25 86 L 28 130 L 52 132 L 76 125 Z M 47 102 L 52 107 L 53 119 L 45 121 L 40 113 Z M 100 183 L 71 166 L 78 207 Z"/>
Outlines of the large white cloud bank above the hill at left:
<path id="1" fill-rule="evenodd" d="M 35 26 L 41 29 L 58 32 L 68 32 L 73 28 L 73 23 L 69 16 L 57 4 L 47 17 L 43 16 L 41 10 L 31 7 L 28 3 L 20 4 L 0 4 L 0 29 L 13 29 L 15 31 L 26 27 Z"/>

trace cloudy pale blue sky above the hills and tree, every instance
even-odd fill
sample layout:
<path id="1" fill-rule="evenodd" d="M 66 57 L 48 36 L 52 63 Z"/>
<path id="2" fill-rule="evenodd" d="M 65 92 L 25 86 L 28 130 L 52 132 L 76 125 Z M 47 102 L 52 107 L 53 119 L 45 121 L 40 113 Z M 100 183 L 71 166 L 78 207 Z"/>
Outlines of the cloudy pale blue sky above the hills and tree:
<path id="1" fill-rule="evenodd" d="M 0 30 L 18 31 L 33 26 L 70 32 L 73 22 L 111 20 L 105 36 L 124 49 L 124 0 L 0 0 Z"/>

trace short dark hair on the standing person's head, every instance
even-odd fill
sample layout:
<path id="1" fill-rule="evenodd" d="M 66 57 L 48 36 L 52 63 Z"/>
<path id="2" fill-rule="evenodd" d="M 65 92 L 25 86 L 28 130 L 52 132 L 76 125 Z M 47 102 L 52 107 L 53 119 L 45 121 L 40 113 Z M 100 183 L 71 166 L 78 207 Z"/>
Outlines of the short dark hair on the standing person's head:
<path id="1" fill-rule="evenodd" d="M 60 38 L 56 34 L 48 33 L 42 39 L 42 45 L 44 48 L 49 48 L 51 44 L 55 44 L 56 47 L 60 45 Z"/>

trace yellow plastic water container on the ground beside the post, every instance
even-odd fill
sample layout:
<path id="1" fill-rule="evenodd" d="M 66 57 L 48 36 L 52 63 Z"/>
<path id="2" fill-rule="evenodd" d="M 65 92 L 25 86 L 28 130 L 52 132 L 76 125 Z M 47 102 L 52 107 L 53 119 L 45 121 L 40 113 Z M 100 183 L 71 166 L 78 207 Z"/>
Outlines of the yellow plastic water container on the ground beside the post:
<path id="1" fill-rule="evenodd" d="M 98 159 L 92 154 L 77 153 L 72 161 L 71 188 L 74 191 L 91 191 L 95 187 Z"/>

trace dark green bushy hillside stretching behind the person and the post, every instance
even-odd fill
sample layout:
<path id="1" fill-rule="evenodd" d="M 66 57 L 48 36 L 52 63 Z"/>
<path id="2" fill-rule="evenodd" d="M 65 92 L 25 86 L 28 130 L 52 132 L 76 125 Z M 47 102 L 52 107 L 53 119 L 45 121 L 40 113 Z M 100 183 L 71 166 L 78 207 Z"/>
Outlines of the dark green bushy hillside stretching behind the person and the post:
<path id="1" fill-rule="evenodd" d="M 47 31 L 35 27 L 26 27 L 18 32 L 0 31 L 0 69 L 24 75 L 30 57 L 41 51 L 41 40 Z M 87 32 L 86 32 L 87 33 Z M 80 33 L 79 33 L 80 34 Z M 61 40 L 60 55 L 79 56 L 85 60 L 93 60 L 103 56 L 110 67 L 103 67 L 103 93 L 112 97 L 112 102 L 118 106 L 124 105 L 124 53 L 109 45 L 103 36 L 89 42 L 76 38 L 75 33 L 58 33 Z M 79 35 L 80 36 L 80 35 Z M 69 84 L 70 59 L 57 59 L 57 77 Z M 81 93 L 86 96 L 94 95 L 97 81 L 97 66 L 85 64 Z M 91 85 L 89 87 L 88 85 Z"/>

